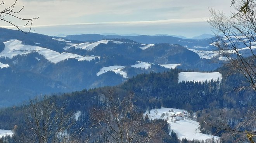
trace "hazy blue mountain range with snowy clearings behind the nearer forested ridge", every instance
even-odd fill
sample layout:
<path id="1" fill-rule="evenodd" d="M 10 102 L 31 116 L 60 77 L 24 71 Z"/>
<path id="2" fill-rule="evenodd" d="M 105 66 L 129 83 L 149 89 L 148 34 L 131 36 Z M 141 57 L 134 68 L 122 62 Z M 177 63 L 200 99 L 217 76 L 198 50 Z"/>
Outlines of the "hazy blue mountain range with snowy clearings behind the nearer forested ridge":
<path id="1" fill-rule="evenodd" d="M 215 41 L 216 42 L 216 41 Z M 213 39 L 159 35 L 67 35 L 0 29 L 0 106 L 40 94 L 118 85 L 138 74 L 214 71 L 221 54 Z"/>

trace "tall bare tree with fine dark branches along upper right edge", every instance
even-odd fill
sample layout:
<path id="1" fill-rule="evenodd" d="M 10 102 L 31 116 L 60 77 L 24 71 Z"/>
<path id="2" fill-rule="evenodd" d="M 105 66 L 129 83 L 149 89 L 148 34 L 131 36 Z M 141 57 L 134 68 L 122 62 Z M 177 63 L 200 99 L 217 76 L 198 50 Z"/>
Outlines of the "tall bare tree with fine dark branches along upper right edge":
<path id="1" fill-rule="evenodd" d="M 242 3 L 246 3 L 246 12 L 240 13 Z M 223 12 L 210 10 L 211 18 L 208 23 L 213 28 L 217 41 L 218 52 L 229 61 L 228 64 L 235 72 L 241 72 L 256 91 L 256 2 L 242 0 L 233 7 L 239 13 L 230 18 Z"/>

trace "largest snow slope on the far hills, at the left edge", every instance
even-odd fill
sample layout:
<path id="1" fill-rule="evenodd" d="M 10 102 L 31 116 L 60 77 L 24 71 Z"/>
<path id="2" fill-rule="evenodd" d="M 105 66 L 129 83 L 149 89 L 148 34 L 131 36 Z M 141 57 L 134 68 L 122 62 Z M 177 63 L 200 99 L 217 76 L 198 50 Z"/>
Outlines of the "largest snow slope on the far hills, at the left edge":
<path id="1" fill-rule="evenodd" d="M 39 46 L 32 46 L 32 45 L 23 45 L 20 40 L 9 40 L 7 42 L 3 42 L 5 44 L 4 50 L 0 53 L 0 57 L 14 57 L 17 55 L 22 54 L 29 54 L 31 52 L 38 52 L 39 54 L 43 55 L 46 59 L 50 62 L 60 62 L 62 60 L 73 58 L 78 59 L 79 61 L 91 61 L 95 59 L 97 56 L 80 56 L 77 54 L 71 53 L 59 53 L 54 50 L 50 50 L 47 48 L 39 47 Z M 100 57 L 97 57 L 100 58 Z"/>

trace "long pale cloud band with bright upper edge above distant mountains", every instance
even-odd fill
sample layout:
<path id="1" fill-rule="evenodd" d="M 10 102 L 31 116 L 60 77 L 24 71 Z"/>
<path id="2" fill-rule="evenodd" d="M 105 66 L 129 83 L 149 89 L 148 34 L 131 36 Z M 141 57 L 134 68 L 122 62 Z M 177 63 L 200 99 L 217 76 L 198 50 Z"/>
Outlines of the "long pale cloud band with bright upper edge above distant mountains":
<path id="1" fill-rule="evenodd" d="M 9 27 L 10 28 L 10 27 Z M 62 25 L 33 25 L 36 33 L 45 35 L 73 34 L 170 34 L 194 37 L 203 33 L 211 32 L 207 22 L 201 19 L 176 19 L 176 20 L 154 20 L 154 21 L 133 21 L 133 22 L 95 22 L 95 23 L 74 23 Z"/>

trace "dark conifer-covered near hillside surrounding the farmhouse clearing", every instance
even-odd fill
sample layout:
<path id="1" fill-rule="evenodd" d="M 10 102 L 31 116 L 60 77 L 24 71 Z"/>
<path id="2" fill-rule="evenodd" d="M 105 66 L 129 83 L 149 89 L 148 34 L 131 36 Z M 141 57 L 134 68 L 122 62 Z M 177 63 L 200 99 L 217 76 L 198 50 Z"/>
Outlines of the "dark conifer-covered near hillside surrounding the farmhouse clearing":
<path id="1" fill-rule="evenodd" d="M 47 102 L 56 103 L 57 108 L 64 107 L 65 113 L 71 112 L 72 114 L 79 112 L 80 116 L 75 121 L 74 126 L 69 128 L 77 129 L 80 127 L 88 127 L 83 130 L 83 134 L 90 133 L 97 135 L 97 130 L 89 128 L 93 123 L 90 118 L 94 109 L 105 110 L 110 101 L 122 101 L 128 95 L 134 93 L 132 103 L 137 107 L 137 113 L 144 113 L 147 109 L 155 109 L 161 107 L 179 108 L 189 111 L 189 114 L 196 116 L 198 121 L 202 121 L 202 117 L 207 116 L 208 113 L 214 112 L 217 109 L 232 109 L 227 113 L 231 115 L 234 110 L 239 111 L 237 116 L 232 114 L 233 121 L 239 119 L 240 116 L 245 114 L 248 109 L 247 104 L 254 105 L 255 93 L 250 90 L 234 91 L 235 87 L 239 84 L 244 84 L 242 76 L 239 74 L 226 77 L 225 72 L 223 81 L 205 81 L 205 82 L 178 82 L 178 69 L 173 69 L 168 72 L 149 74 L 140 74 L 136 77 L 128 79 L 125 83 L 114 87 L 100 87 L 73 93 L 65 93 L 60 96 L 51 96 Z M 241 79 L 234 80 L 234 79 Z M 248 98 L 250 97 L 250 98 Z M 125 105 L 124 105 L 125 106 Z M 17 135 L 26 130 L 26 120 L 24 119 L 24 108 L 28 108 L 25 104 L 24 107 L 2 108 L 0 111 L 0 128 L 12 129 L 15 125 L 19 127 Z M 218 114 L 211 114 L 217 116 Z M 21 118 L 22 117 L 22 118 Z M 233 126 L 237 122 L 230 122 Z M 214 135 L 220 135 L 215 132 L 214 128 L 209 128 L 201 122 L 202 131 L 211 132 Z M 88 137 L 87 136 L 87 137 Z M 164 139 L 163 140 L 167 140 Z M 169 137 L 168 137 L 169 138 Z M 99 138 L 90 138 L 91 140 L 98 140 Z M 101 139 L 100 139 L 101 140 Z M 168 139 L 169 140 L 169 139 Z"/>

